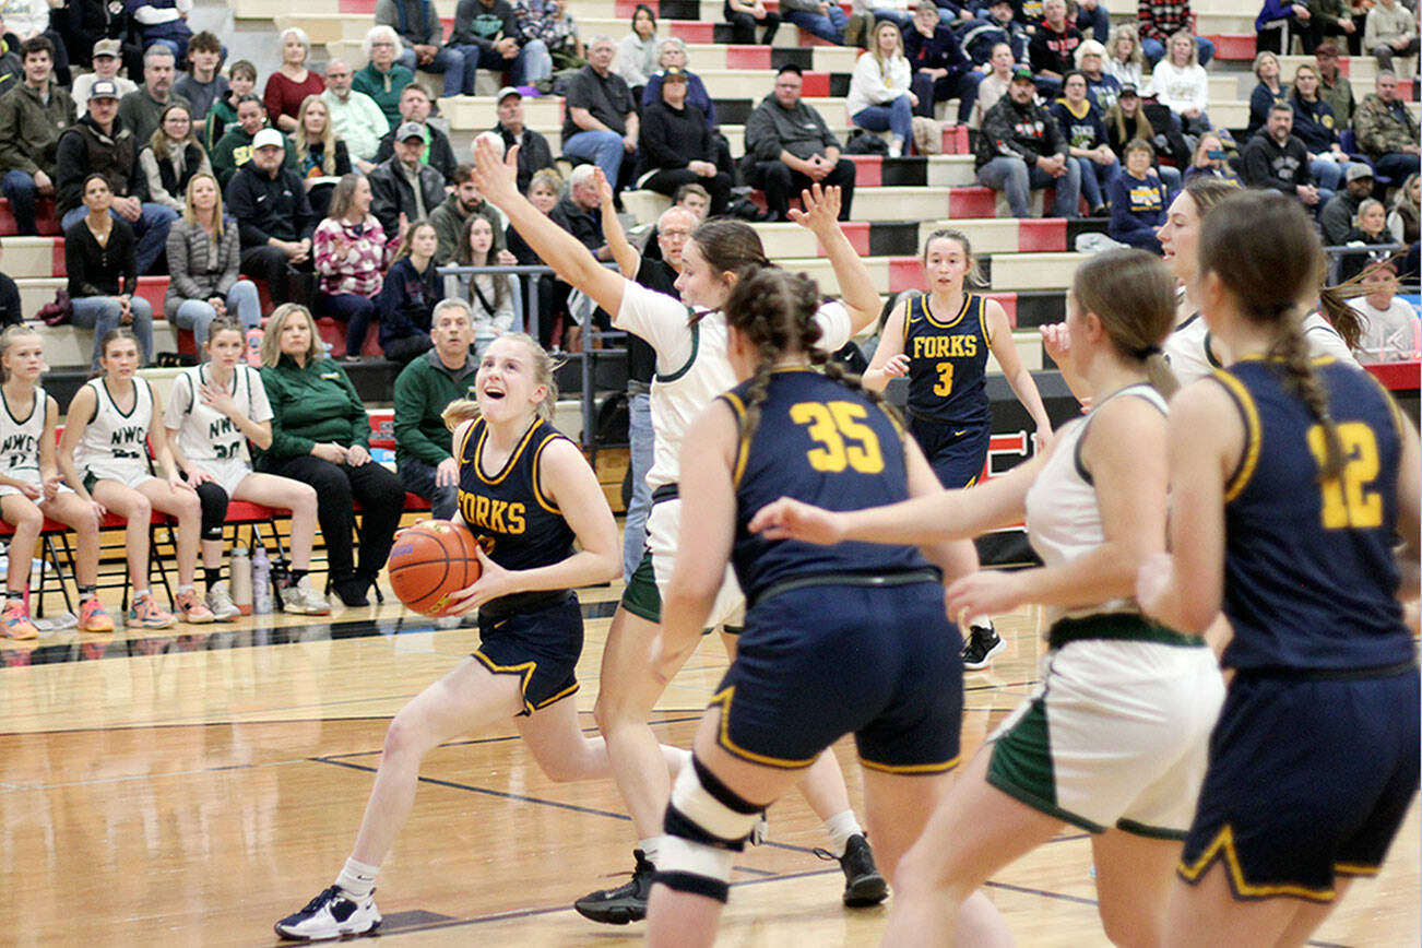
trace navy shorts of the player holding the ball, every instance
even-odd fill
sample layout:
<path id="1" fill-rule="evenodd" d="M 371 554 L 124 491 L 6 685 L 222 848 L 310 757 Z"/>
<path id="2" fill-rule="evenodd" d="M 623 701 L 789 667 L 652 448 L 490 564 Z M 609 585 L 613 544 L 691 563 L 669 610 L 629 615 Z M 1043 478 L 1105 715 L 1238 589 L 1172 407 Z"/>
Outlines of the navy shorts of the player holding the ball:
<path id="1" fill-rule="evenodd" d="M 522 679 L 523 711 L 530 715 L 577 691 L 583 654 L 583 608 L 565 593 L 536 608 L 485 614 L 479 610 L 479 651 L 474 658 L 495 675 Z"/>

